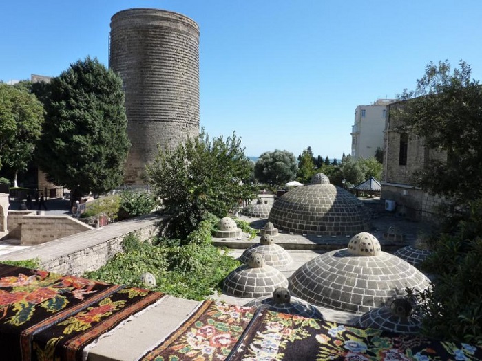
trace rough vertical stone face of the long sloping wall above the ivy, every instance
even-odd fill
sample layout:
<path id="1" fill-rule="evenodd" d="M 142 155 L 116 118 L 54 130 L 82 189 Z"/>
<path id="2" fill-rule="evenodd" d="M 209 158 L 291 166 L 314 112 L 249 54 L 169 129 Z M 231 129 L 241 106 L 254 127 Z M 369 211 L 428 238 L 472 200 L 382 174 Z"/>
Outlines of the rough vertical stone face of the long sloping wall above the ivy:
<path id="1" fill-rule="evenodd" d="M 108 227 L 106 226 L 105 229 Z M 97 232 L 97 230 L 93 232 Z M 65 254 L 54 259 L 41 262 L 41 268 L 50 272 L 74 274 L 76 276 L 81 276 L 86 271 L 97 270 L 105 265 L 109 259 L 112 259 L 115 254 L 122 252 L 122 240 L 130 232 L 131 230 L 81 250 L 65 252 Z M 149 223 L 135 232 L 141 241 L 146 241 L 158 233 L 158 226 L 156 226 L 156 223 Z"/>

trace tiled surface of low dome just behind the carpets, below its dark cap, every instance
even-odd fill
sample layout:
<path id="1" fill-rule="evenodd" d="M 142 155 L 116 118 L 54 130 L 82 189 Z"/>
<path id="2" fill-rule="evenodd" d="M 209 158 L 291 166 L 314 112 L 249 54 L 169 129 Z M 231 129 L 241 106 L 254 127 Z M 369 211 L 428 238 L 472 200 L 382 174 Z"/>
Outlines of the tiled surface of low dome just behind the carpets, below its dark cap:
<path id="1" fill-rule="evenodd" d="M 283 314 L 298 315 L 308 318 L 323 320 L 322 313 L 313 305 L 310 305 L 301 298 L 291 296 L 289 303 L 275 303 L 273 296 L 263 296 L 249 301 L 245 307 L 266 307 L 271 311 L 282 312 Z"/>

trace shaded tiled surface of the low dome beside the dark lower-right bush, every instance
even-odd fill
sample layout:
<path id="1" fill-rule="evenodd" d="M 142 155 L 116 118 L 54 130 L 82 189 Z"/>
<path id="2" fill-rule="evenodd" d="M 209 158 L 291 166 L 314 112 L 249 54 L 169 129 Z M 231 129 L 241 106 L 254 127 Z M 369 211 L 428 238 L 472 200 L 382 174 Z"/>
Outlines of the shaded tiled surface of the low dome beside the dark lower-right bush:
<path id="1" fill-rule="evenodd" d="M 421 319 L 413 314 L 408 317 L 395 316 L 390 307 L 380 307 L 363 314 L 358 320 L 358 325 L 397 333 L 419 333 Z"/>

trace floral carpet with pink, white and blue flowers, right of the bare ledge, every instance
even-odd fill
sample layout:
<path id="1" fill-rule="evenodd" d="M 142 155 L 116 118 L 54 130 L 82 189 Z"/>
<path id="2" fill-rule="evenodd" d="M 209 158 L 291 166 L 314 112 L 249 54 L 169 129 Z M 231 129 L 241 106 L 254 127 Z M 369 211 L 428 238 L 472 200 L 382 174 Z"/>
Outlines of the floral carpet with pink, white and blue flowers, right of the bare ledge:
<path id="1" fill-rule="evenodd" d="M 138 360 L 461 361 L 482 360 L 482 349 L 206 301 Z"/>

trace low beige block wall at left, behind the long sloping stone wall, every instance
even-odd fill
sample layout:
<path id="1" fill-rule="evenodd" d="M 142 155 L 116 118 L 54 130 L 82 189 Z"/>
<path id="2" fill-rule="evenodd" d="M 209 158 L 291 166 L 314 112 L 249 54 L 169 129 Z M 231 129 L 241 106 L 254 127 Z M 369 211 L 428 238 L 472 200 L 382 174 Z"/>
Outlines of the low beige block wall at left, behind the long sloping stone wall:
<path id="1" fill-rule="evenodd" d="M 70 236 L 91 226 L 69 216 L 25 215 L 21 219 L 21 245 L 36 245 Z"/>

